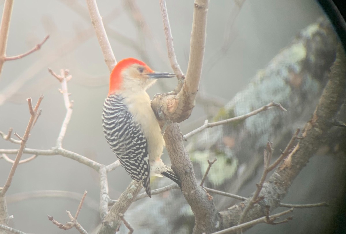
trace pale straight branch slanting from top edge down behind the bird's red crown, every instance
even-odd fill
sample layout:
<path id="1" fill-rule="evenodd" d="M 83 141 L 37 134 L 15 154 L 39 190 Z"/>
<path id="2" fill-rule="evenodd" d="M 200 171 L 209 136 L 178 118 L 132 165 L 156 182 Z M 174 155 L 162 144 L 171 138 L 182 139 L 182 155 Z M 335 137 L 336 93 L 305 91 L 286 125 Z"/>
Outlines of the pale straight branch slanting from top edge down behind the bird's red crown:
<path id="1" fill-rule="evenodd" d="M 86 0 L 86 4 L 88 5 L 91 23 L 94 26 L 97 39 L 99 40 L 104 61 L 108 66 L 109 72 L 111 72 L 114 66 L 117 64 L 117 61 L 110 46 L 106 30 L 104 29 L 96 0 Z"/>

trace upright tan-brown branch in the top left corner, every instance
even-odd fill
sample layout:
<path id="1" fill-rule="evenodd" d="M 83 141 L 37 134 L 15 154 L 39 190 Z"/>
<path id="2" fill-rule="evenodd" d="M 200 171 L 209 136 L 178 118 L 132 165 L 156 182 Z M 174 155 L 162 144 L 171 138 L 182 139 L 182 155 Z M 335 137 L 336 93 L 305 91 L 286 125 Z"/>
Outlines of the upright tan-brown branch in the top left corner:
<path id="1" fill-rule="evenodd" d="M 12 15 L 13 0 L 6 0 L 2 10 L 2 18 L 0 25 L 0 75 L 3 63 L 5 62 L 8 31 Z"/>

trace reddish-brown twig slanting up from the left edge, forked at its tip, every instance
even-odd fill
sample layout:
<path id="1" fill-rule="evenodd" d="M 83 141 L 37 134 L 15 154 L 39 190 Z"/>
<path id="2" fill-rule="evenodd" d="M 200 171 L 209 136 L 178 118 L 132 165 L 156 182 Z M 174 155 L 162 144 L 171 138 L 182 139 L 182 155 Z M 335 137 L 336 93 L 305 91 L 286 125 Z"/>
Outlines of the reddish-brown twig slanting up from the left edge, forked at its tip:
<path id="1" fill-rule="evenodd" d="M 43 99 L 43 95 L 41 95 L 39 97 L 38 101 L 37 101 L 37 104 L 36 104 L 37 109 L 38 109 L 38 106 L 40 105 L 42 99 Z M 28 100 L 29 110 L 32 110 L 33 108 L 32 108 L 32 104 L 31 104 L 31 98 L 28 98 L 27 100 Z M 36 107 L 35 107 L 35 110 L 37 110 Z M 11 182 L 12 182 L 13 176 L 15 175 L 17 166 L 18 166 L 19 161 L 20 161 L 20 158 L 23 155 L 23 151 L 25 149 L 26 142 L 27 142 L 27 140 L 29 138 L 30 131 L 32 129 L 32 125 L 34 124 L 34 120 L 35 120 L 35 117 L 36 117 L 35 115 L 36 114 L 37 114 L 37 112 L 31 113 L 30 120 L 29 120 L 28 126 L 27 126 L 27 128 L 25 130 L 25 133 L 24 133 L 24 136 L 23 136 L 23 140 L 22 140 L 22 142 L 20 144 L 19 150 L 17 152 L 16 159 L 15 159 L 13 165 L 12 165 L 12 168 L 10 170 L 10 173 L 8 175 L 8 178 L 6 180 L 5 185 L 0 190 L 0 196 L 4 196 L 6 194 L 8 188 L 11 185 Z"/>

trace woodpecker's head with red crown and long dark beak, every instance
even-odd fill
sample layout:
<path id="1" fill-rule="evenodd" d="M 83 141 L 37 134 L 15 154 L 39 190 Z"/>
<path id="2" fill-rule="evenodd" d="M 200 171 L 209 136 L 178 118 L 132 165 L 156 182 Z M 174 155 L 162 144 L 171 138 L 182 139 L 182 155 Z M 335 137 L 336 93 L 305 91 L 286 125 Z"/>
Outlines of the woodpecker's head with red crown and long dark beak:
<path id="1" fill-rule="evenodd" d="M 125 58 L 117 63 L 110 74 L 108 95 L 146 90 L 158 78 L 170 78 L 168 72 L 154 72 L 144 62 L 135 58 Z"/>

